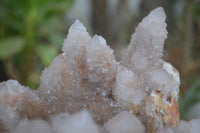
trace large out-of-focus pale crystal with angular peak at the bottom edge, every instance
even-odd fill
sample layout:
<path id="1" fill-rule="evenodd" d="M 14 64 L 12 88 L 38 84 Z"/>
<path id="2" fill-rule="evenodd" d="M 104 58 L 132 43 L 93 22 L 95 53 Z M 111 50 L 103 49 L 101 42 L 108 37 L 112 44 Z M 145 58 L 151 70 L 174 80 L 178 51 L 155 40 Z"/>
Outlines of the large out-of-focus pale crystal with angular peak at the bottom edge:
<path id="1" fill-rule="evenodd" d="M 86 110 L 70 115 L 66 119 L 59 119 L 53 125 L 56 133 L 100 133 Z"/>

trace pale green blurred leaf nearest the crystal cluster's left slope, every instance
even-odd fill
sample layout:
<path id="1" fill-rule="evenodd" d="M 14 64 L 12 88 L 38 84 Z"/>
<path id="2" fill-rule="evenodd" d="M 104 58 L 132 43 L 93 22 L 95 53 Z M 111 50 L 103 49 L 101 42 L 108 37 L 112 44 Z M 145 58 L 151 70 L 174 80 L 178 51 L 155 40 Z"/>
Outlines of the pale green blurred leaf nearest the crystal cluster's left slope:
<path id="1" fill-rule="evenodd" d="M 57 56 L 57 49 L 49 45 L 39 45 L 36 48 L 37 55 L 45 66 L 49 66 L 51 61 Z"/>

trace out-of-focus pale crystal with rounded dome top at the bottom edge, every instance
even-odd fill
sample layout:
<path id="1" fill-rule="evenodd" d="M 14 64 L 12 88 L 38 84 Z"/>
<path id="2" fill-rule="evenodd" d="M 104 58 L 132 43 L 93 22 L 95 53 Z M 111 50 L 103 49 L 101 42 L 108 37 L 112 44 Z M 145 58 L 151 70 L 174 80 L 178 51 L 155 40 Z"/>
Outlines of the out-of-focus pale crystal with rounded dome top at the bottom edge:
<path id="1" fill-rule="evenodd" d="M 126 111 L 122 111 L 104 124 L 108 133 L 144 133 L 145 127 L 140 120 Z"/>

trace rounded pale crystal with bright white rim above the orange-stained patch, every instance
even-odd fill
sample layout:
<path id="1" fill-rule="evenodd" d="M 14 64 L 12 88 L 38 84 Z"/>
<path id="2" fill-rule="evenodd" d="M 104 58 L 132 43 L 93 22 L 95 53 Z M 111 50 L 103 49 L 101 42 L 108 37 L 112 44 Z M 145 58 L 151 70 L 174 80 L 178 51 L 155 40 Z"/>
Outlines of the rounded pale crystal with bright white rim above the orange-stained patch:
<path id="1" fill-rule="evenodd" d="M 164 61 L 162 68 L 147 71 L 142 75 L 152 91 L 160 91 L 164 97 L 172 96 L 178 99 L 179 73 L 171 64 Z"/>

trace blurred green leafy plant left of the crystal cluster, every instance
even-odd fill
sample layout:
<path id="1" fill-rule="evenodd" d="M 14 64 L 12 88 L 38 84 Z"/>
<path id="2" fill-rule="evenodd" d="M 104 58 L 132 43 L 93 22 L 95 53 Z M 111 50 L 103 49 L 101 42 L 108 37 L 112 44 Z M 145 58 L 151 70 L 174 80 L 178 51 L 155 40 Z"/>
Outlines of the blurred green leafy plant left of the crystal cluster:
<path id="1" fill-rule="evenodd" d="M 38 78 L 32 78 L 39 76 L 35 62 L 48 66 L 58 54 L 66 27 L 63 15 L 72 3 L 73 0 L 0 1 L 0 60 L 8 78 L 37 87 Z"/>

